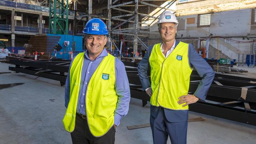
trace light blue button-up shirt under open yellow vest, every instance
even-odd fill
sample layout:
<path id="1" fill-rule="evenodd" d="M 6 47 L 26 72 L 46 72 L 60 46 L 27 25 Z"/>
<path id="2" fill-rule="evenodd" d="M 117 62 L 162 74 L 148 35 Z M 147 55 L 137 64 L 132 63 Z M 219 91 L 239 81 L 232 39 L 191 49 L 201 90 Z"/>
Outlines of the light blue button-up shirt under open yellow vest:
<path id="1" fill-rule="evenodd" d="M 85 57 L 83 59 L 82 74 L 81 74 L 81 83 L 79 90 L 79 97 L 77 103 L 76 112 L 86 115 L 85 113 L 85 96 L 87 85 L 91 79 L 91 76 L 95 72 L 96 68 L 100 65 L 102 59 L 108 56 L 106 49 L 93 61 L 88 56 L 88 52 L 85 52 Z M 71 61 L 72 63 L 72 61 Z M 70 65 L 71 66 L 71 65 Z M 70 95 L 70 80 L 69 74 L 66 79 L 65 87 L 65 107 L 69 104 L 69 95 Z M 117 107 L 115 109 L 114 124 L 118 126 L 120 120 L 123 116 L 128 113 L 129 102 L 130 102 L 130 87 L 128 78 L 126 75 L 124 64 L 115 58 L 115 89 L 118 95 Z"/>

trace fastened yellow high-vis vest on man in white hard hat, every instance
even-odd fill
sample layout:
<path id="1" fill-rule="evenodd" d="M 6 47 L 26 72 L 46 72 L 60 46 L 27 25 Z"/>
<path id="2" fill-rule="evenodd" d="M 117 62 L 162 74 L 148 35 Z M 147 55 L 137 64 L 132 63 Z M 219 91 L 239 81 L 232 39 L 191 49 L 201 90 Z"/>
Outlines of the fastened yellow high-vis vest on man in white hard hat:
<path id="1" fill-rule="evenodd" d="M 185 103 L 179 105 L 178 98 L 187 95 L 192 69 L 188 60 L 188 44 L 179 42 L 173 52 L 165 58 L 161 43 L 155 44 L 149 57 L 151 68 L 151 105 L 172 110 L 187 110 Z"/>

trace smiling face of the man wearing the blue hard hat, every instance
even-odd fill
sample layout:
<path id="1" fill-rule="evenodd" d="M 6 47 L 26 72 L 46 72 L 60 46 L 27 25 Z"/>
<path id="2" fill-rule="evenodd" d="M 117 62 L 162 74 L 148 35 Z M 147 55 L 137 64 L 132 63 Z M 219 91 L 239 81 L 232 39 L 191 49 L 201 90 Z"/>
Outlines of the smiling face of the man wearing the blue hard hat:
<path id="1" fill-rule="evenodd" d="M 85 46 L 89 54 L 100 54 L 106 43 L 107 38 L 105 35 L 87 35 L 85 37 Z"/>

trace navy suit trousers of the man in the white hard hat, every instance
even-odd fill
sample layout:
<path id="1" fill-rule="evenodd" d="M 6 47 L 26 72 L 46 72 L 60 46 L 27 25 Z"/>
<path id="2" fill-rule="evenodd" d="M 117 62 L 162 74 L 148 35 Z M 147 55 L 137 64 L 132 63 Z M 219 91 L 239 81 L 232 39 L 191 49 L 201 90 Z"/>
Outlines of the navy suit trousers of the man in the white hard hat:
<path id="1" fill-rule="evenodd" d="M 166 144 L 168 136 L 172 144 L 187 143 L 187 121 L 169 122 L 162 107 L 156 118 L 150 114 L 150 126 L 154 144 Z"/>

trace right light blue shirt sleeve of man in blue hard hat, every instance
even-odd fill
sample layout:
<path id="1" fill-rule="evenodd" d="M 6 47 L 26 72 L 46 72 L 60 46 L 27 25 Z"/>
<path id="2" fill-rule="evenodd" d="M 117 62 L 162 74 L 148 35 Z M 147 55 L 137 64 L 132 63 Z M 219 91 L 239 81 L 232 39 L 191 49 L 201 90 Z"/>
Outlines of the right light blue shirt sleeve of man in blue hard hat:
<path id="1" fill-rule="evenodd" d="M 115 58 L 115 78 L 118 101 L 115 109 L 114 124 L 119 126 L 121 118 L 128 113 L 131 94 L 124 64 L 117 58 Z"/>

